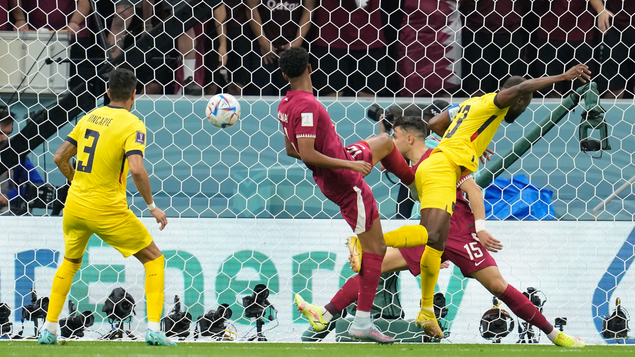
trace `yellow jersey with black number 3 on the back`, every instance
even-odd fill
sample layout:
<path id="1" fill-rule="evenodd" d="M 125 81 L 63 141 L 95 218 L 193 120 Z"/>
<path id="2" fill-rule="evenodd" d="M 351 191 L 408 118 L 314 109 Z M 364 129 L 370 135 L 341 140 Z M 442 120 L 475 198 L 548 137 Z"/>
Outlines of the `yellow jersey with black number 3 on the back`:
<path id="1" fill-rule="evenodd" d="M 100 107 L 79 119 L 66 138 L 77 167 L 64 212 L 86 220 L 116 220 L 128 210 L 128 156 L 144 155 L 145 125 L 121 107 Z"/>

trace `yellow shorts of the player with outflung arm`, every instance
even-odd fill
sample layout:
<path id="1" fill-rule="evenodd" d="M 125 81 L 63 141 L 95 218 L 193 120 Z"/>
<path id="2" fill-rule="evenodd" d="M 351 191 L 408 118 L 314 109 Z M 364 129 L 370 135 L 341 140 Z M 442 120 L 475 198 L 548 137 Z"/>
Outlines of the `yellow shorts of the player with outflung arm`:
<path id="1" fill-rule="evenodd" d="M 415 182 L 421 209 L 439 208 L 452 214 L 457 203 L 457 182 L 461 170 L 443 151 L 433 152 L 417 168 Z"/>

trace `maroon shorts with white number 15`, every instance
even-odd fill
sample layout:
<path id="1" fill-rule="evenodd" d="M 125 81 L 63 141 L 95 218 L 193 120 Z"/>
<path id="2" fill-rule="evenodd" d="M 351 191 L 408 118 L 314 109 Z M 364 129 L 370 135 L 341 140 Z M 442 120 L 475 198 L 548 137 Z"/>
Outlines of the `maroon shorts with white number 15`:
<path id="1" fill-rule="evenodd" d="M 425 245 L 413 246 L 411 248 L 399 248 L 403 255 L 408 269 L 414 276 L 421 274 L 421 256 L 425 250 Z M 450 260 L 459 269 L 465 278 L 472 278 L 472 273 L 486 267 L 497 266 L 494 258 L 490 255 L 481 242 L 472 236 L 450 236 L 445 243 L 445 250 L 441 255 L 441 261 Z"/>

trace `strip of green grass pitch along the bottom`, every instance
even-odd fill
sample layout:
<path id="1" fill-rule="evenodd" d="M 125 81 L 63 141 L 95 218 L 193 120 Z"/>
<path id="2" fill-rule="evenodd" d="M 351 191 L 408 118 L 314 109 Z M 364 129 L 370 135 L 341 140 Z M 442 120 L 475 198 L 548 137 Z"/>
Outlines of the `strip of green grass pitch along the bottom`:
<path id="1" fill-rule="evenodd" d="M 178 347 L 149 347 L 144 342 L 70 341 L 65 346 L 39 346 L 36 342 L 0 341 L 3 357 L 509 357 L 509 356 L 635 356 L 635 346 L 587 346 L 563 349 L 551 345 L 493 344 L 283 344 L 283 343 L 182 343 Z"/>

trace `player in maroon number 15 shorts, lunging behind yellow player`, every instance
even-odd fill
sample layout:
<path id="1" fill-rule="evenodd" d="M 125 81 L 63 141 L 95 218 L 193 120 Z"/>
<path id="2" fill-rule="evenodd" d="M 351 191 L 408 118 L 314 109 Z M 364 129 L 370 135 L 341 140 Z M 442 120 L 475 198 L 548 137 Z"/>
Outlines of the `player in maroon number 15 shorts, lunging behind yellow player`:
<path id="1" fill-rule="evenodd" d="M 394 123 L 393 142 L 403 156 L 410 159 L 412 163 L 416 163 L 411 168 L 412 172 L 417 172 L 418 166 L 432 152 L 432 149 L 425 145 L 427 132 L 425 121 L 418 116 L 399 118 Z M 469 196 L 469 202 L 464 198 L 463 191 Z M 472 176 L 465 175 L 457 183 L 457 203 L 450 219 L 450 232 L 441 261 L 450 260 L 461 269 L 461 273 L 466 278 L 478 280 L 487 290 L 502 300 L 516 316 L 540 328 L 554 344 L 561 347 L 584 346 L 584 341 L 581 339 L 570 337 L 554 328 L 523 293 L 507 283 L 500 275 L 490 252 L 498 252 L 502 249 L 502 244 L 486 229 L 476 231 L 474 219 L 477 217 L 485 219 L 483 194 L 481 194 L 481 187 L 476 184 Z M 392 232 L 389 232 L 386 236 L 391 234 Z M 425 246 L 387 250 L 382 263 L 382 274 L 410 270 L 413 276 L 418 276 L 421 273 L 420 261 L 424 250 Z M 447 267 L 447 264 L 442 264 L 442 267 Z M 330 311 L 329 318 L 321 320 L 314 316 L 307 316 L 314 331 L 324 330 L 331 320 L 331 314 L 337 314 L 355 302 L 358 285 L 359 278 L 355 276 L 342 286 L 329 304 L 324 307 L 313 307 L 313 311 Z M 323 339 L 324 335 L 320 338 Z M 574 343 L 567 344 L 566 341 Z"/>

